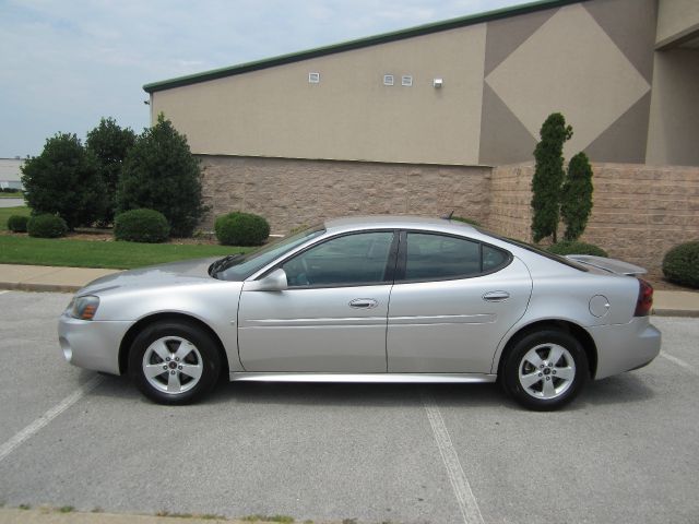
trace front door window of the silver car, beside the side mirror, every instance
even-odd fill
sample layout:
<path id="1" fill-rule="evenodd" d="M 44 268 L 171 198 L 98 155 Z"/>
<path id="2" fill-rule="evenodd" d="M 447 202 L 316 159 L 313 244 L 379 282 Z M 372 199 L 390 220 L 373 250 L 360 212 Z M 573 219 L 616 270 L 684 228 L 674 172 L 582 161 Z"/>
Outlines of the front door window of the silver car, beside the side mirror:
<path id="1" fill-rule="evenodd" d="M 393 233 L 363 233 L 333 238 L 311 248 L 282 267 L 289 287 L 381 284 Z"/>

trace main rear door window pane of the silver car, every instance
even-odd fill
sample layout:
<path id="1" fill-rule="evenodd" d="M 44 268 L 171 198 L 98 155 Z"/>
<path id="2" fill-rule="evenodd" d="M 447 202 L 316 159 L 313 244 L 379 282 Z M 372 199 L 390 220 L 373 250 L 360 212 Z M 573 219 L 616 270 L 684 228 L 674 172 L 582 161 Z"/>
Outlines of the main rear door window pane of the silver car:
<path id="1" fill-rule="evenodd" d="M 405 278 L 462 278 L 481 274 L 481 245 L 462 238 L 407 234 Z"/>

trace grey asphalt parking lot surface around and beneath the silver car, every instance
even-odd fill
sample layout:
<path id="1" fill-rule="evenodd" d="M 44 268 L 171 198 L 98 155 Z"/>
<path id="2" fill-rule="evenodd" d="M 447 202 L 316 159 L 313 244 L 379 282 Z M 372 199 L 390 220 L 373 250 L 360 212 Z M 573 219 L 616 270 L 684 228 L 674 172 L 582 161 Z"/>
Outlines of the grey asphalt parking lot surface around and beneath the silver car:
<path id="1" fill-rule="evenodd" d="M 222 384 L 163 407 L 63 361 L 62 294 L 0 291 L 0 502 L 298 522 L 697 523 L 699 319 L 559 413 L 491 384 Z"/>

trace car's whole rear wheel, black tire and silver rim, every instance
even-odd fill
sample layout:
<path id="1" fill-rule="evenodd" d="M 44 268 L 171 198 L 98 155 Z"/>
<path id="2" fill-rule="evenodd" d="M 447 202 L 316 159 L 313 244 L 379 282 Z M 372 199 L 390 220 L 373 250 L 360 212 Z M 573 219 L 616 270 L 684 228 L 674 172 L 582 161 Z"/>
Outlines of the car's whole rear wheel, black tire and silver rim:
<path id="1" fill-rule="evenodd" d="M 561 356 L 555 362 L 549 361 L 559 354 Z M 564 331 L 530 333 L 520 338 L 503 358 L 502 386 L 528 409 L 558 409 L 578 396 L 590 380 L 588 356 L 582 345 Z M 532 361 L 536 361 L 536 366 Z"/>

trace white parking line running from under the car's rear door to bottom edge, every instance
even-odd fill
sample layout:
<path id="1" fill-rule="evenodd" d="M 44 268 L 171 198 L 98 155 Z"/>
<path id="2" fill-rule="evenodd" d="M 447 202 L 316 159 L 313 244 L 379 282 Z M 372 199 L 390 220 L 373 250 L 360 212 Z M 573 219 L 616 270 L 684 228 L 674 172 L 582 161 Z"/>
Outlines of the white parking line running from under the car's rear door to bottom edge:
<path id="1" fill-rule="evenodd" d="M 476 498 L 473 496 L 469 479 L 463 473 L 459 455 L 457 455 L 457 450 L 454 450 L 454 446 L 451 443 L 451 437 L 449 436 L 449 431 L 447 430 L 447 426 L 445 425 L 445 419 L 441 416 L 439 407 L 427 393 L 423 393 L 423 405 L 427 412 L 429 425 L 433 427 L 433 433 L 435 436 L 435 441 L 437 442 L 437 448 L 439 448 L 441 460 L 445 463 L 445 466 L 447 466 L 449 481 L 451 483 L 451 487 L 457 496 L 463 522 L 465 524 L 483 524 L 481 509 L 478 508 Z"/>

